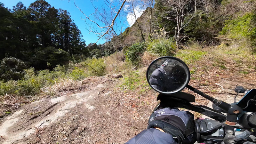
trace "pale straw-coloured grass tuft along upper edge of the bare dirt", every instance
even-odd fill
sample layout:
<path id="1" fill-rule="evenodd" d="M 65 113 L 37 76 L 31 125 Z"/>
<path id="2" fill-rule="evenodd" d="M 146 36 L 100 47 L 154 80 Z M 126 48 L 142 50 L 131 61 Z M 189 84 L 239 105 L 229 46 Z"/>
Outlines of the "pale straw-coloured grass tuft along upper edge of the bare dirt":
<path id="1" fill-rule="evenodd" d="M 44 86 L 43 92 L 51 98 L 58 96 L 59 92 L 65 92 L 78 89 L 82 86 L 82 81 L 74 81 L 72 79 L 61 79 L 59 83 L 52 86 Z"/>

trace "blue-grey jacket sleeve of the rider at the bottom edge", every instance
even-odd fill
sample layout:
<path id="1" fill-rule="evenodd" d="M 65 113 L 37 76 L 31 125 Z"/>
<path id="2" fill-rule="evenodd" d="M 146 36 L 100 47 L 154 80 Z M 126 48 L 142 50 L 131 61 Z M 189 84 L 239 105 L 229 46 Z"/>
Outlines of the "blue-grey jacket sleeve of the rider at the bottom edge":
<path id="1" fill-rule="evenodd" d="M 143 130 L 125 144 L 177 144 L 172 135 L 155 128 Z"/>

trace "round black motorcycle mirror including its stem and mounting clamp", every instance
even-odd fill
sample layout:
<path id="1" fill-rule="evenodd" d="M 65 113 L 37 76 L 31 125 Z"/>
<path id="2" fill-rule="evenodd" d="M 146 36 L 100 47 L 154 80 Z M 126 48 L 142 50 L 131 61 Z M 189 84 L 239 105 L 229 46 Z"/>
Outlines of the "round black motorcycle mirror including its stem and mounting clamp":
<path id="1" fill-rule="evenodd" d="M 157 58 L 148 66 L 146 77 L 151 88 L 165 95 L 180 92 L 187 87 L 227 111 L 227 121 L 229 122 L 236 122 L 237 116 L 243 112 L 237 105 L 231 107 L 230 104 L 215 99 L 188 85 L 190 79 L 188 66 L 176 57 L 164 56 Z"/>

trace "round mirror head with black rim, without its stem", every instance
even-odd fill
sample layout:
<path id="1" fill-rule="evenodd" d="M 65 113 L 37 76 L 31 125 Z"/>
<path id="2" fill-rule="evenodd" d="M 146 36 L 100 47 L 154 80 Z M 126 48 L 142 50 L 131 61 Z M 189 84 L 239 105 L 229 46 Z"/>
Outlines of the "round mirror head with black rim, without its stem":
<path id="1" fill-rule="evenodd" d="M 148 84 L 163 94 L 173 94 L 183 90 L 190 79 L 188 66 L 180 59 L 171 56 L 160 57 L 148 67 Z"/>

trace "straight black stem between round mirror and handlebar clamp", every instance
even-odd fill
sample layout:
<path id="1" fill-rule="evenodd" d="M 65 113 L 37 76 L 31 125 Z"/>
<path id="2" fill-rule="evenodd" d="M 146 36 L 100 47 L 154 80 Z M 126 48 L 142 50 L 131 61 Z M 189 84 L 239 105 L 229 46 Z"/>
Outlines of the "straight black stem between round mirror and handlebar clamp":
<path id="1" fill-rule="evenodd" d="M 226 102 L 224 102 L 222 100 L 215 99 L 215 98 L 205 94 L 204 92 L 201 92 L 201 91 L 197 90 L 196 88 L 194 88 L 194 87 L 192 87 L 190 85 L 187 85 L 186 87 L 188 89 L 190 89 L 191 91 L 196 92 L 197 94 L 203 96 L 204 98 L 212 101 L 212 103 L 214 103 L 216 106 L 219 106 L 220 108 L 222 108 L 222 109 L 224 109 L 226 111 L 228 111 L 228 109 L 231 107 L 230 104 L 228 104 L 228 103 L 226 103 Z"/>

